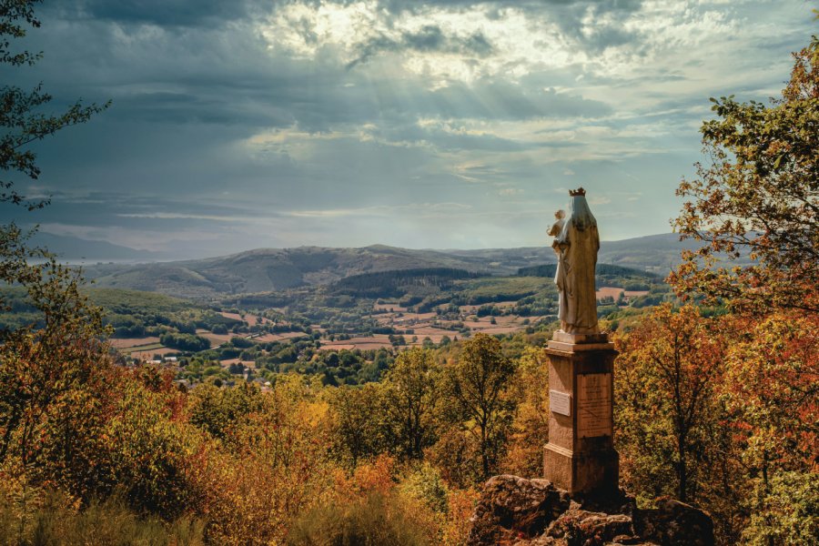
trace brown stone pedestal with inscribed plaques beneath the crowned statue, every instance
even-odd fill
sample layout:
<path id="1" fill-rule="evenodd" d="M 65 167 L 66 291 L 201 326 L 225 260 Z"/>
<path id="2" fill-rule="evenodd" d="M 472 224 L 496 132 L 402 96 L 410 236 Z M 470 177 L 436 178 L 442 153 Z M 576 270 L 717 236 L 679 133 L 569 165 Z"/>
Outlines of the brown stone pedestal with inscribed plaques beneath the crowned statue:
<path id="1" fill-rule="evenodd" d="M 546 480 L 571 495 L 619 490 L 620 457 L 614 450 L 614 358 L 606 334 L 557 332 L 549 357 L 549 443 Z"/>

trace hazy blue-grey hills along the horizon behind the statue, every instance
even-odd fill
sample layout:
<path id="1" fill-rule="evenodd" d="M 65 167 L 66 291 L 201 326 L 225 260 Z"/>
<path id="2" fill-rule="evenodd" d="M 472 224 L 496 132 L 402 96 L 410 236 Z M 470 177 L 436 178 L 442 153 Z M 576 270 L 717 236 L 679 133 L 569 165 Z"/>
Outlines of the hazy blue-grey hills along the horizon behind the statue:
<path id="1" fill-rule="evenodd" d="M 598 261 L 667 274 L 683 248 L 674 234 L 604 241 Z M 219 258 L 138 265 L 96 264 L 85 268 L 97 287 L 161 292 L 182 298 L 212 299 L 329 284 L 362 273 L 458 268 L 491 275 L 515 275 L 519 268 L 554 263 L 551 247 L 479 250 L 413 250 L 375 245 L 365 248 L 259 248 Z"/>

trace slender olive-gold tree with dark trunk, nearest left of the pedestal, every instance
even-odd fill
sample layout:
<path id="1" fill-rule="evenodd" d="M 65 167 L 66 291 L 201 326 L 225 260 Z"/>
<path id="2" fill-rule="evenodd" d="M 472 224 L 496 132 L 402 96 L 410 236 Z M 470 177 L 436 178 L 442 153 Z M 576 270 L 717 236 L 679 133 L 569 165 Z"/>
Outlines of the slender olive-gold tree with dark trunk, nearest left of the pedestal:
<path id="1" fill-rule="evenodd" d="M 482 479 L 490 477 L 506 443 L 514 402 L 505 396 L 515 365 L 486 334 L 464 341 L 447 369 L 447 390 L 463 426 L 478 443 Z"/>

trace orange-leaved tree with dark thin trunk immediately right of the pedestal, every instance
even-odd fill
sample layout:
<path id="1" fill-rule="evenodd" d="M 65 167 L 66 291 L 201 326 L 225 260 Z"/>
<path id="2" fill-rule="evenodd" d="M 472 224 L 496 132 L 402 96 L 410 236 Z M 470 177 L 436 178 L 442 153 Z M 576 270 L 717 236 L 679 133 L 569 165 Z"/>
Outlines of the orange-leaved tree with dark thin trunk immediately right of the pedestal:
<path id="1" fill-rule="evenodd" d="M 713 389 L 723 346 L 699 309 L 656 308 L 640 326 L 617 338 L 617 430 L 628 446 L 624 466 L 635 480 L 689 501 L 697 460 L 713 418 Z M 630 459 L 631 458 L 631 459 Z"/>

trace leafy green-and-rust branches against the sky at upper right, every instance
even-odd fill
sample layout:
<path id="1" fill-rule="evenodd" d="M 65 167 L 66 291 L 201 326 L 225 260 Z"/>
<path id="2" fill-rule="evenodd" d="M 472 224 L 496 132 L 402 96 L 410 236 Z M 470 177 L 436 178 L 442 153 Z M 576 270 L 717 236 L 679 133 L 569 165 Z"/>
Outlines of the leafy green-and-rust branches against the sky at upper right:
<path id="1" fill-rule="evenodd" d="M 684 253 L 672 273 L 681 293 L 736 308 L 819 311 L 819 39 L 794 58 L 771 106 L 711 99 L 718 118 L 701 129 L 710 162 L 677 190 L 690 200 L 675 228 L 708 243 Z M 744 253 L 750 265 L 720 263 Z"/>

